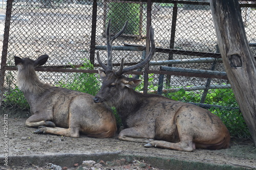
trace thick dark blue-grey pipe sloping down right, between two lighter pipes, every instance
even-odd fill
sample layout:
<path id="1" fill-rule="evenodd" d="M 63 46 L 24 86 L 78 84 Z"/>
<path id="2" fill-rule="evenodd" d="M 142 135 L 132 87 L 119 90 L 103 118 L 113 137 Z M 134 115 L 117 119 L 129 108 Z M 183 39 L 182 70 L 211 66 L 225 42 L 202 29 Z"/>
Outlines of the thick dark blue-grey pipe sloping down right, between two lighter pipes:
<path id="1" fill-rule="evenodd" d="M 175 72 L 189 72 L 189 73 L 207 74 L 207 75 L 220 75 L 220 76 L 227 75 L 225 71 L 212 71 L 212 70 L 204 70 L 204 69 L 190 69 L 190 68 L 178 68 L 178 67 L 167 67 L 167 66 L 160 66 L 160 70 L 175 71 Z"/>

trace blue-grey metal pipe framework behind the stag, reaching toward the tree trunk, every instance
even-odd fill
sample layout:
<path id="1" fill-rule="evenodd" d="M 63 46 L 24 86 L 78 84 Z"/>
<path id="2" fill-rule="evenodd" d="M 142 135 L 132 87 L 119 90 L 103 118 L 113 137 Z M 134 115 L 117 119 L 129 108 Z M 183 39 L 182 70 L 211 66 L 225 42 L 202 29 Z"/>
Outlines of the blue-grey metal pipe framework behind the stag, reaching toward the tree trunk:
<path id="1" fill-rule="evenodd" d="M 161 51 L 162 53 L 170 53 L 174 49 L 162 49 L 157 48 L 156 51 Z M 95 46 L 95 50 L 106 50 L 105 45 L 97 45 Z M 132 45 L 132 44 L 124 44 L 124 46 L 113 46 L 113 51 L 143 51 L 143 55 L 141 57 L 141 60 L 145 59 L 145 46 L 139 46 L 139 45 Z M 181 52 L 180 52 L 181 53 Z M 190 53 L 191 54 L 191 53 Z M 193 52 L 193 55 L 201 54 L 200 52 Z M 219 57 L 219 53 L 215 53 L 217 57 Z M 215 65 L 217 62 L 221 62 L 221 58 L 214 58 L 214 57 L 207 57 L 207 58 L 193 58 L 193 59 L 176 59 L 176 60 L 164 60 L 164 61 L 150 61 L 149 65 L 169 65 L 169 64 L 184 64 L 184 63 L 211 63 L 212 62 L 212 70 L 202 70 L 202 69 L 190 69 L 190 68 L 177 68 L 177 67 L 167 67 L 167 66 L 160 66 L 160 70 L 162 71 L 169 71 L 169 72 L 179 72 L 180 74 L 186 73 L 186 74 L 200 74 L 205 76 L 216 76 L 221 79 L 227 79 L 227 75 L 225 71 L 214 71 Z M 142 68 L 139 68 L 138 71 L 141 71 Z M 135 78 L 139 78 L 138 75 Z M 212 77 L 211 77 L 212 78 Z M 159 75 L 159 81 L 158 81 L 158 94 L 168 93 L 168 92 L 177 92 L 180 89 L 184 89 L 185 91 L 191 91 L 191 90 L 205 90 L 201 103 L 204 102 L 205 97 L 207 95 L 208 89 L 217 89 L 217 88 L 231 88 L 230 85 L 210 85 L 210 78 L 208 79 L 205 86 L 193 86 L 193 87 L 184 87 L 184 88 L 175 88 L 175 89 L 162 89 L 163 88 L 163 79 L 164 75 Z M 142 92 L 142 91 L 141 91 Z M 155 90 L 150 90 L 148 92 L 155 93 Z"/>

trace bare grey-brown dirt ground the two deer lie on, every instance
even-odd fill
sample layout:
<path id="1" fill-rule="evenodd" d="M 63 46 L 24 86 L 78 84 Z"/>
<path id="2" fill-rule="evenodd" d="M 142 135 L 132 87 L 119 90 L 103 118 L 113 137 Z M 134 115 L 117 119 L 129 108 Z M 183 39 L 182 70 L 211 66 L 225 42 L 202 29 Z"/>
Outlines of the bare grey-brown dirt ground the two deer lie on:
<path id="1" fill-rule="evenodd" d="M 70 138 L 64 136 L 56 136 L 51 134 L 35 134 L 34 128 L 25 127 L 25 120 L 29 116 L 29 112 L 10 113 L 8 110 L 1 110 L 2 120 L 4 114 L 8 114 L 8 134 L 1 137 L 1 145 L 8 140 L 8 156 L 11 159 L 15 156 L 52 156 L 60 154 L 97 154 L 97 153 L 118 153 L 122 155 L 137 155 L 143 157 L 156 158 L 174 158 L 177 160 L 197 161 L 201 163 L 235 165 L 244 168 L 256 169 L 256 149 L 252 141 L 248 140 L 231 140 L 230 148 L 225 150 L 202 150 L 197 149 L 194 152 L 173 151 L 158 148 L 144 148 L 143 143 L 120 141 L 117 135 L 109 139 L 89 138 L 81 135 L 79 138 Z M 4 121 L 0 122 L 1 132 L 3 132 Z M 1 133 L 1 136 L 3 133 Z M 3 147 L 1 147 L 3 148 Z M 4 159 L 4 153 L 1 152 L 0 159 Z M 111 158 L 110 158 L 111 159 Z M 113 160 L 109 160 L 113 161 Z M 120 161 L 120 160 L 119 160 Z M 148 169 L 155 167 L 150 162 L 145 163 L 147 167 L 140 168 L 136 160 L 126 162 L 120 168 L 104 167 L 105 169 Z M 136 165 L 134 165 L 134 162 Z M 141 160 L 140 160 L 141 162 Z M 42 162 L 40 162 L 42 163 Z M 52 162 L 44 162 L 45 165 Z M 82 162 L 69 162 L 71 165 Z M 127 163 L 129 165 L 127 165 Z M 39 162 L 38 162 L 39 165 Z M 29 162 L 22 167 L 17 164 L 9 164 L 9 169 L 40 169 L 35 168 L 37 164 Z M 126 166 L 126 168 L 125 168 Z M 129 167 L 127 167 L 129 166 Z M 26 168 L 25 168 L 26 167 Z M 46 166 L 39 165 L 41 169 L 49 169 Z M 45 167 L 45 168 L 44 168 Z M 8 169 L 4 166 L 3 161 L 0 163 L 0 169 Z M 78 169 L 76 167 L 68 167 L 69 169 Z M 54 168 L 53 168 L 54 169 Z M 95 169 L 95 168 L 94 168 Z"/>

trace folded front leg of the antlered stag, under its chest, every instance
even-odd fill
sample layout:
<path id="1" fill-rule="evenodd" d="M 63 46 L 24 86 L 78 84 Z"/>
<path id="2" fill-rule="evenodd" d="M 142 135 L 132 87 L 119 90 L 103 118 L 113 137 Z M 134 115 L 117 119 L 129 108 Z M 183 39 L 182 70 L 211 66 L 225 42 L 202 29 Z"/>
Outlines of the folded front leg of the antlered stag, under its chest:
<path id="1" fill-rule="evenodd" d="M 143 133 L 144 131 L 136 127 L 127 128 L 122 130 L 119 135 L 119 140 L 126 140 L 126 141 L 133 141 L 133 142 L 141 142 L 141 143 L 148 143 L 153 140 L 154 135 L 150 135 L 150 133 Z"/>

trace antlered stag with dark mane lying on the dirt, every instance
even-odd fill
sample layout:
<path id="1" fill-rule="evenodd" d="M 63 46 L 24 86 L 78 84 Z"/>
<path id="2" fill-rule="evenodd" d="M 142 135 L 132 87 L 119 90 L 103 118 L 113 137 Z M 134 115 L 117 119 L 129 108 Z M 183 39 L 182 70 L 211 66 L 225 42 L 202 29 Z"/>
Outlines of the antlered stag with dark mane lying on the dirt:
<path id="1" fill-rule="evenodd" d="M 192 152 L 195 149 L 219 150 L 229 147 L 230 134 L 221 119 L 199 106 L 175 101 L 159 94 L 140 93 L 134 90 L 142 80 L 128 78 L 125 73 L 143 67 L 155 54 L 154 29 L 150 27 L 151 48 L 147 57 L 136 65 L 113 70 L 112 42 L 125 30 L 111 37 L 111 20 L 106 28 L 108 59 L 105 65 L 97 52 L 98 69 L 102 86 L 95 103 L 115 107 L 122 120 L 119 140 L 145 143 L 144 147 Z"/>

